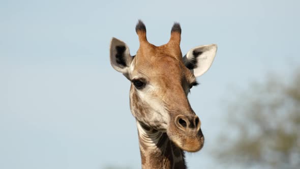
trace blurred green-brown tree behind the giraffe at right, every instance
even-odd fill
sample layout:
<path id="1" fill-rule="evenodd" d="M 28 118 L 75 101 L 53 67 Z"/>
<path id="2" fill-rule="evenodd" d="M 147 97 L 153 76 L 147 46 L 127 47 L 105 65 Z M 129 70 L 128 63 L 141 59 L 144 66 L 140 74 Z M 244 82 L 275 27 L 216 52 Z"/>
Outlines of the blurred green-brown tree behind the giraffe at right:
<path id="1" fill-rule="evenodd" d="M 221 161 L 300 168 L 300 71 L 288 83 L 269 77 L 251 85 L 229 103 L 228 123 L 214 150 Z"/>

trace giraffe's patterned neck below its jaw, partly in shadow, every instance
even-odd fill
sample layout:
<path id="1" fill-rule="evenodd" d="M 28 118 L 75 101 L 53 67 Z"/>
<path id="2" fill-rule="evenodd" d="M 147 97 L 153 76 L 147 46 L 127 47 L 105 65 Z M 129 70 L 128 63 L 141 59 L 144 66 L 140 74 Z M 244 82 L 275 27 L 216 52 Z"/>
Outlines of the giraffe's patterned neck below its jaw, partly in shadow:
<path id="1" fill-rule="evenodd" d="M 148 128 L 137 121 L 142 168 L 186 168 L 184 152 L 166 133 Z"/>

